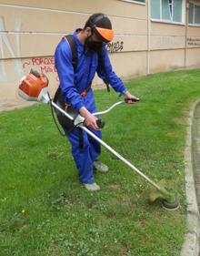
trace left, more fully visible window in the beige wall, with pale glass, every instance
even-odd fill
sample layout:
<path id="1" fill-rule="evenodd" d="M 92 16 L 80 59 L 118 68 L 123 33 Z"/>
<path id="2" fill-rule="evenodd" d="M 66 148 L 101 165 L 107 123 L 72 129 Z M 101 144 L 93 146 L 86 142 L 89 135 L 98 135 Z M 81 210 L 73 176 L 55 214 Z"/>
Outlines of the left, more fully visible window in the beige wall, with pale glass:
<path id="1" fill-rule="evenodd" d="M 152 0 L 151 17 L 165 22 L 183 23 L 183 0 Z"/>

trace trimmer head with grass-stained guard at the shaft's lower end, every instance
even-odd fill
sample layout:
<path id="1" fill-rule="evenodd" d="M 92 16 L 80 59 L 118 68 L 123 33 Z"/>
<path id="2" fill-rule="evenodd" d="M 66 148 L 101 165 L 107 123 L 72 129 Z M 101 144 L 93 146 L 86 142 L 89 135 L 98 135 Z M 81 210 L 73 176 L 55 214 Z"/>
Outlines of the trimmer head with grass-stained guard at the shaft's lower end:
<path id="1" fill-rule="evenodd" d="M 165 189 L 165 179 L 157 182 L 157 185 L 161 190 L 155 188 L 151 189 L 149 193 L 149 203 L 152 204 L 156 200 L 159 200 L 165 210 L 177 210 L 179 208 L 179 202 L 175 199 L 173 194 Z"/>

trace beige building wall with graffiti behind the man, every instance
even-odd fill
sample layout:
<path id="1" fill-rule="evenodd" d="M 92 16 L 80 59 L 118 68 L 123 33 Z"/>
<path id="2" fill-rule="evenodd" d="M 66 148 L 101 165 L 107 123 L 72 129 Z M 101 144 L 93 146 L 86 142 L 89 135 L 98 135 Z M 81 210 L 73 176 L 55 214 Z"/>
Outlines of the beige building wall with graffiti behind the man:
<path id="1" fill-rule="evenodd" d="M 120 77 L 199 67 L 200 27 L 151 22 L 148 5 L 147 0 L 145 5 L 120 0 L 0 0 L 0 106 L 22 102 L 16 90 L 20 77 L 32 67 L 50 78 L 54 93 L 59 83 L 55 46 L 95 12 L 112 21 L 115 39 L 109 51 Z M 101 83 L 95 77 L 94 87 Z"/>

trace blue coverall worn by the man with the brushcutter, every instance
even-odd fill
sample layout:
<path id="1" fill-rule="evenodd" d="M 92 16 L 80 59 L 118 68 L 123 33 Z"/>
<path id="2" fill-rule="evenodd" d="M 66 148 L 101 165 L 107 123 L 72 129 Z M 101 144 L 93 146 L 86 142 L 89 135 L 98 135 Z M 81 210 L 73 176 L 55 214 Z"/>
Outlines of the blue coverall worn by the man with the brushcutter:
<path id="1" fill-rule="evenodd" d="M 102 79 L 105 79 L 105 73 L 100 64 L 98 64 L 98 55 L 84 50 L 83 44 L 78 40 L 76 29 L 73 37 L 77 47 L 77 67 L 74 70 L 72 64 L 72 50 L 65 38 L 63 38 L 55 49 L 55 68 L 60 80 L 60 87 L 65 101 L 75 110 L 85 107 L 91 113 L 96 112 L 95 98 L 92 88 L 89 89 L 85 97 L 81 93 L 92 82 L 95 72 Z M 112 69 L 107 51 L 103 46 L 103 55 L 105 59 L 105 70 L 109 79 L 109 84 L 116 92 L 125 93 L 126 87 L 122 80 L 115 75 Z M 91 130 L 99 138 L 102 137 L 101 131 Z M 75 128 L 70 134 L 67 134 L 72 149 L 72 155 L 75 159 L 75 165 L 78 169 L 78 175 L 81 182 L 91 184 L 95 181 L 93 172 L 93 162 L 100 154 L 100 144 L 91 138 L 86 132 L 83 132 L 83 147 L 79 148 L 79 128 Z"/>

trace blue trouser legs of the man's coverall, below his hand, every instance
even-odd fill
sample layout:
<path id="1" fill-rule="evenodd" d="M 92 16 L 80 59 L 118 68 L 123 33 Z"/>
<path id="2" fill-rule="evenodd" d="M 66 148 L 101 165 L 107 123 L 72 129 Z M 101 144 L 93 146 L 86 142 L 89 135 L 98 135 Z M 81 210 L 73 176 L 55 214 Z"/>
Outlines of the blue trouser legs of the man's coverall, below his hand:
<path id="1" fill-rule="evenodd" d="M 76 168 L 78 169 L 79 179 L 85 184 L 93 183 L 95 181 L 93 161 L 98 158 L 101 147 L 94 138 L 83 131 L 83 148 L 80 148 L 79 129 L 80 128 L 75 128 L 67 137 L 71 143 L 72 155 L 75 159 Z M 98 138 L 102 137 L 101 131 L 95 131 L 93 129 L 92 132 L 94 132 Z"/>

